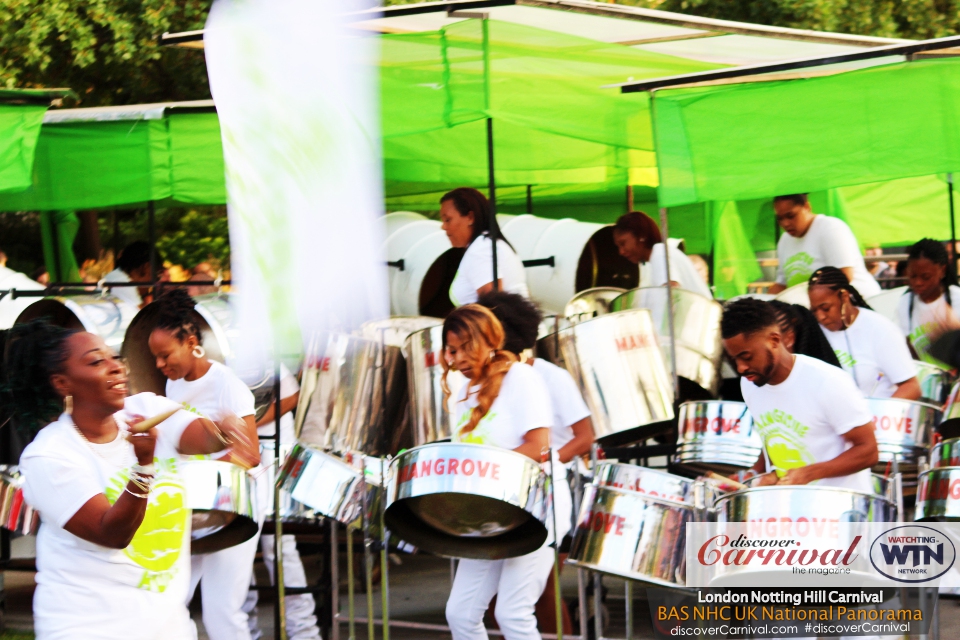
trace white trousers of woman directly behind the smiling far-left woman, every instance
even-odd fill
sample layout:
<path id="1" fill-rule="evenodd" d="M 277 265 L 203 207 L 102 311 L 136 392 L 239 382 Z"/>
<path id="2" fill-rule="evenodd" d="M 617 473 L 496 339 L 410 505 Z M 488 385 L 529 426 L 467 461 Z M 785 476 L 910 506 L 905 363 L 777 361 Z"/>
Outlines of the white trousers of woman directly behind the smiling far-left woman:
<path id="1" fill-rule="evenodd" d="M 257 555 L 256 535 L 234 547 L 190 558 L 190 595 L 200 583 L 203 626 L 210 640 L 250 640 L 250 628 L 243 603 L 253 578 Z"/>

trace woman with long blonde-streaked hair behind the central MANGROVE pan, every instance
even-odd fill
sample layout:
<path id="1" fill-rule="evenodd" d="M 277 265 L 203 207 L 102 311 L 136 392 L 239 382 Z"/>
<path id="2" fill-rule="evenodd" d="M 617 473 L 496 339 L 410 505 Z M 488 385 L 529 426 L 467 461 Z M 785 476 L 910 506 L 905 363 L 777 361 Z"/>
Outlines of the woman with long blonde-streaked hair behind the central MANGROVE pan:
<path id="1" fill-rule="evenodd" d="M 444 321 L 444 392 L 449 398 L 446 376 L 451 369 L 469 381 L 455 399 L 452 440 L 510 449 L 540 462 L 550 447 L 550 395 L 532 367 L 520 365 L 516 355 L 503 349 L 504 339 L 496 316 L 476 304 L 455 309 Z M 569 488 L 560 483 L 555 492 L 562 513 L 569 508 Z M 569 519 L 556 522 L 557 537 L 562 538 Z M 534 606 L 553 567 L 552 542 L 551 531 L 542 547 L 519 558 L 462 559 L 447 600 L 454 640 L 487 638 L 483 614 L 494 595 L 494 615 L 507 640 L 539 639 Z"/>

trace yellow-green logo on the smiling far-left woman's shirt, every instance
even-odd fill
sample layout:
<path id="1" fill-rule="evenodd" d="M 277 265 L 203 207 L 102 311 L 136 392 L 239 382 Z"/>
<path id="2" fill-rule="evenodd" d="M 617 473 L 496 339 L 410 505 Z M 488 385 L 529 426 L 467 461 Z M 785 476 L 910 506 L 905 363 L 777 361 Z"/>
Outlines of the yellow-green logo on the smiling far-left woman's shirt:
<path id="1" fill-rule="evenodd" d="M 133 540 L 124 554 L 144 568 L 140 589 L 162 593 L 177 573 L 176 563 L 187 535 L 190 510 L 186 491 L 177 475 L 173 458 L 154 458 L 156 480 L 150 489 L 147 511 Z M 106 488 L 107 500 L 113 504 L 130 480 L 130 471 L 118 472 Z"/>

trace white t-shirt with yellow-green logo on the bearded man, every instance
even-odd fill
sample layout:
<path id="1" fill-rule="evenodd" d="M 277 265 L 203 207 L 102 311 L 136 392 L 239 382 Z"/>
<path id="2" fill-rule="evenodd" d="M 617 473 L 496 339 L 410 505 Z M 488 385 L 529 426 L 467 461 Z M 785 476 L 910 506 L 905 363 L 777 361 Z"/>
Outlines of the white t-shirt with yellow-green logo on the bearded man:
<path id="1" fill-rule="evenodd" d="M 841 436 L 873 420 L 849 374 L 804 355 L 780 384 L 758 387 L 741 378 L 740 390 L 767 458 L 781 473 L 836 458 L 852 446 Z M 869 469 L 815 484 L 872 493 Z"/>

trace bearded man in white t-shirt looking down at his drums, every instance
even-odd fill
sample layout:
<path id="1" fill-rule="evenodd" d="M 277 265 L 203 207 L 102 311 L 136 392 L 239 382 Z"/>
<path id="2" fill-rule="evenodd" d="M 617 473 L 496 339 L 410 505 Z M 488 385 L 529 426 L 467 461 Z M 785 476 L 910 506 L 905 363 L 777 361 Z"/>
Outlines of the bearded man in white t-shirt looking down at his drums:
<path id="1" fill-rule="evenodd" d="M 765 455 L 753 468 L 764 474 L 760 485 L 815 482 L 872 492 L 873 417 L 850 374 L 787 351 L 776 312 L 761 300 L 728 304 L 721 334 L 763 438 Z"/>

